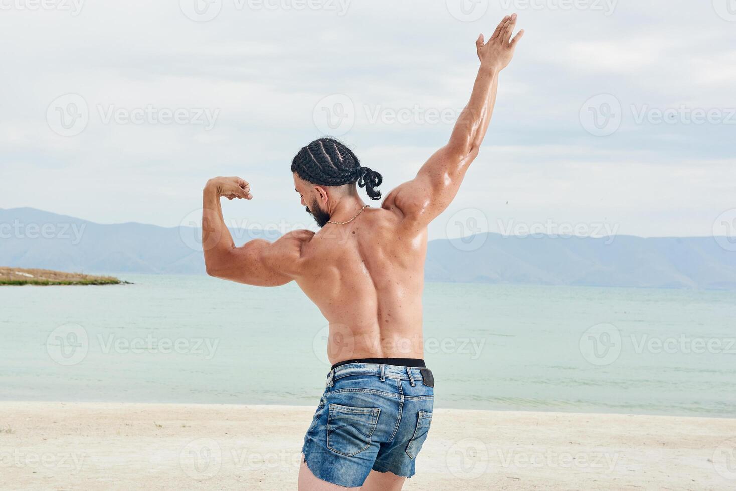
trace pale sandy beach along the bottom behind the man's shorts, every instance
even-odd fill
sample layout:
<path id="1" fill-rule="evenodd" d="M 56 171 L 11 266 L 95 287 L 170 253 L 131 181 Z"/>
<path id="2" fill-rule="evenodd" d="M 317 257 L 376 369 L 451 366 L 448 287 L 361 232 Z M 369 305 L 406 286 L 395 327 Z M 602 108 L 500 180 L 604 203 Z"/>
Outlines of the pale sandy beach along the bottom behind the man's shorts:
<path id="1" fill-rule="evenodd" d="M 2 489 L 296 489 L 314 408 L 0 403 Z M 732 490 L 736 420 L 436 409 L 406 490 Z"/>

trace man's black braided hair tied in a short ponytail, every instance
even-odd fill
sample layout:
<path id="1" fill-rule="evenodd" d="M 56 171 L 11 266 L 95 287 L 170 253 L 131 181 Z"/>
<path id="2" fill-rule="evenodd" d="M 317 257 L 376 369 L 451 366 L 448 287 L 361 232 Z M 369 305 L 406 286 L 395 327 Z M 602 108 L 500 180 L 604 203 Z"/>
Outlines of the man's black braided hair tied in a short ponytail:
<path id="1" fill-rule="evenodd" d="M 358 186 L 366 188 L 369 198 L 381 199 L 381 191 L 375 189 L 383 182 L 381 174 L 361 167 L 353 151 L 334 138 L 319 138 L 303 147 L 291 161 L 291 172 L 321 186 L 357 182 Z"/>

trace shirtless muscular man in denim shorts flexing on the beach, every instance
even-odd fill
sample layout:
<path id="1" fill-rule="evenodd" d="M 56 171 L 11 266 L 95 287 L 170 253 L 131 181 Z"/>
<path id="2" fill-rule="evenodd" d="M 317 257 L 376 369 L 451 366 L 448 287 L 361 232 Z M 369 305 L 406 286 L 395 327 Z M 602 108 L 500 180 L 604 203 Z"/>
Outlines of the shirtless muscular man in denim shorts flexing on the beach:
<path id="1" fill-rule="evenodd" d="M 251 199 L 237 177 L 204 190 L 202 244 L 207 272 L 233 282 L 276 286 L 292 280 L 330 323 L 334 363 L 304 439 L 299 489 L 400 490 L 432 420 L 434 377 L 422 360 L 422 287 L 427 226 L 453 200 L 475 160 L 495 104 L 498 74 L 523 35 L 516 14 L 487 43 L 450 141 L 417 176 L 369 208 L 355 186 L 378 200 L 381 174 L 361 167 L 342 143 L 320 138 L 291 162 L 294 187 L 319 232 L 290 232 L 274 243 L 235 247 L 220 198 Z"/>

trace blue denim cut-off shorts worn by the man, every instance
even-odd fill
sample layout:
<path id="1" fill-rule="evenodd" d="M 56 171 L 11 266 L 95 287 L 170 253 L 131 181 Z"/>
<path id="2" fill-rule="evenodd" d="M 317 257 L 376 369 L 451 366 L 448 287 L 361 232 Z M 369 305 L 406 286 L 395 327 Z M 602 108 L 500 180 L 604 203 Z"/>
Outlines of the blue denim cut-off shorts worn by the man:
<path id="1" fill-rule="evenodd" d="M 328 374 L 302 453 L 317 479 L 362 486 L 371 470 L 414 476 L 432 422 L 428 368 L 350 363 Z"/>

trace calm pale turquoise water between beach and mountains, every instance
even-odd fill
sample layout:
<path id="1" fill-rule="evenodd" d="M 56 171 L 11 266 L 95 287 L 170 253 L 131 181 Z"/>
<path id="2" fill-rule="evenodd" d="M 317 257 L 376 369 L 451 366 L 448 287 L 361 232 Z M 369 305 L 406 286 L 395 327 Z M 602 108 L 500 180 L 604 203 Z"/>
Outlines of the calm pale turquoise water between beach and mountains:
<path id="1" fill-rule="evenodd" d="M 0 399 L 316 405 L 326 323 L 294 284 L 122 275 L 0 288 Z M 736 416 L 733 292 L 428 283 L 436 406 Z"/>

